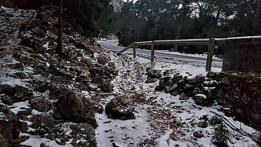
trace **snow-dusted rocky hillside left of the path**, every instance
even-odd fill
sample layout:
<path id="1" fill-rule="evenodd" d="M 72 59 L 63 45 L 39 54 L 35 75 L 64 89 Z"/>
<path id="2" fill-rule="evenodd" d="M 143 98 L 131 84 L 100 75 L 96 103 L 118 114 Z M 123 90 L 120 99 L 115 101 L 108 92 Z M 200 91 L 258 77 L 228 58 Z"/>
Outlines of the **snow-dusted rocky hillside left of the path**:
<path id="1" fill-rule="evenodd" d="M 57 10 L 0 9 L 1 147 L 97 146 L 95 113 L 103 107 L 92 94 L 109 92 L 118 72 L 106 51 L 66 22 L 63 54 L 55 53 Z"/>

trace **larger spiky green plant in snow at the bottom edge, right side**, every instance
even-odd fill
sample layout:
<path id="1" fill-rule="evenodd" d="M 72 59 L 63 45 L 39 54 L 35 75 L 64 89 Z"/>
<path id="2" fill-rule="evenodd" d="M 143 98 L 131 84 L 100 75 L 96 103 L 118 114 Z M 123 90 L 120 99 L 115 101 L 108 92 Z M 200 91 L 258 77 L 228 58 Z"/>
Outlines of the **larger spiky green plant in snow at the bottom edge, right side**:
<path id="1" fill-rule="evenodd" d="M 220 124 L 212 128 L 211 135 L 213 135 L 211 142 L 218 147 L 227 147 L 227 144 L 232 143 L 233 140 L 233 135 L 229 132 L 225 124 Z"/>

